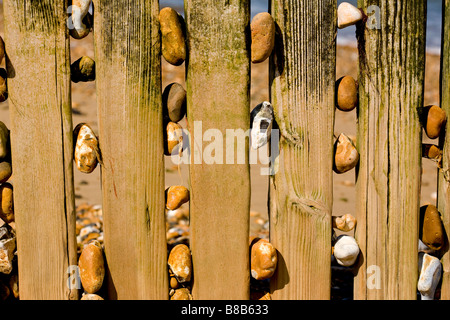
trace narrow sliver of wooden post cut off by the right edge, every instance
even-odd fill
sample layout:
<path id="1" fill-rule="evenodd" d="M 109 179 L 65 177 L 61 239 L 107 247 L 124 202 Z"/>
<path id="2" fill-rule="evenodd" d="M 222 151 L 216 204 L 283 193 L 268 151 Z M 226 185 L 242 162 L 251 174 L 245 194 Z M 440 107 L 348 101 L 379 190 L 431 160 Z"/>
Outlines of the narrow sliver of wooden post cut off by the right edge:
<path id="1" fill-rule="evenodd" d="M 442 45 L 441 45 L 441 108 L 450 115 L 450 1 L 442 1 Z M 442 215 L 445 232 L 450 235 L 450 121 L 447 121 L 446 130 L 439 141 L 443 150 L 442 170 L 438 175 L 438 209 Z M 448 241 L 444 245 L 441 258 L 442 286 L 441 300 L 450 300 L 450 253 Z"/>

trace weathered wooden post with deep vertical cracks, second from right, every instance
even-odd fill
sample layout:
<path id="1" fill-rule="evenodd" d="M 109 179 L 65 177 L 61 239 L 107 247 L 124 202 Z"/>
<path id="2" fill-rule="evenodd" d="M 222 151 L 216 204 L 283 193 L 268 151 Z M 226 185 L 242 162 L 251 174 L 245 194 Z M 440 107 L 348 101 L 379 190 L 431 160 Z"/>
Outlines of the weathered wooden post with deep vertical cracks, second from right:
<path id="1" fill-rule="evenodd" d="M 426 1 L 358 1 L 360 54 L 355 299 L 416 299 Z M 372 20 L 371 20 L 372 19 Z M 369 25 L 369 24 L 368 24 Z"/>

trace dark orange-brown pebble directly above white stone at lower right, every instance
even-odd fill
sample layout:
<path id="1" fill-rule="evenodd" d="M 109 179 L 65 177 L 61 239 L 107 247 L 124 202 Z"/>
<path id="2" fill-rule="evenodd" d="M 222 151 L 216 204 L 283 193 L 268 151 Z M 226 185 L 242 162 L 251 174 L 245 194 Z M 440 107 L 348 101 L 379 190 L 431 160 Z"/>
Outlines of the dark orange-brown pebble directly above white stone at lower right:
<path id="1" fill-rule="evenodd" d="M 433 250 L 444 245 L 445 230 L 438 209 L 434 205 L 420 208 L 419 238 Z"/>

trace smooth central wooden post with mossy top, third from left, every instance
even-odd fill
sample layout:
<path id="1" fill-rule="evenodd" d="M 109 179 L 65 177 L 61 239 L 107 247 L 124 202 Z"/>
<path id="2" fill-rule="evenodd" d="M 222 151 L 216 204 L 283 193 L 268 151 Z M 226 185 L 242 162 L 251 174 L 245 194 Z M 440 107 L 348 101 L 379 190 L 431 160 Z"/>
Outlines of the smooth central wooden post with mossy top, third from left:
<path id="1" fill-rule="evenodd" d="M 194 299 L 249 298 L 248 140 L 240 150 L 227 132 L 250 127 L 249 5 L 185 0 Z"/>

